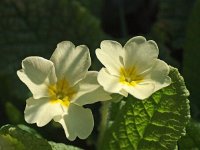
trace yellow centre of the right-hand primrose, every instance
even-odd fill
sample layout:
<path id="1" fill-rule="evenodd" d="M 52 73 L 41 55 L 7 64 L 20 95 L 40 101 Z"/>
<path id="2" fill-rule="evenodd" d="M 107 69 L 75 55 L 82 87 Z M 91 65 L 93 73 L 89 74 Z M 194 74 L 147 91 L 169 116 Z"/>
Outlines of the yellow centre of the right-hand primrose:
<path id="1" fill-rule="evenodd" d="M 123 84 L 129 86 L 136 86 L 138 83 L 142 82 L 143 76 L 138 75 L 135 67 L 130 68 L 120 68 L 120 78 L 119 81 Z"/>

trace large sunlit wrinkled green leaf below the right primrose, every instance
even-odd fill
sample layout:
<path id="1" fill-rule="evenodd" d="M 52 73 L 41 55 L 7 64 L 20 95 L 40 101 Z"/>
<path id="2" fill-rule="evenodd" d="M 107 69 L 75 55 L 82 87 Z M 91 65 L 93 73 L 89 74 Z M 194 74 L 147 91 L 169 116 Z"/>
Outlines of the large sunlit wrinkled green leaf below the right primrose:
<path id="1" fill-rule="evenodd" d="M 100 150 L 177 149 L 190 118 L 189 92 L 177 69 L 171 67 L 169 76 L 172 84 L 146 100 L 129 96 L 122 107 L 112 104 Z"/>

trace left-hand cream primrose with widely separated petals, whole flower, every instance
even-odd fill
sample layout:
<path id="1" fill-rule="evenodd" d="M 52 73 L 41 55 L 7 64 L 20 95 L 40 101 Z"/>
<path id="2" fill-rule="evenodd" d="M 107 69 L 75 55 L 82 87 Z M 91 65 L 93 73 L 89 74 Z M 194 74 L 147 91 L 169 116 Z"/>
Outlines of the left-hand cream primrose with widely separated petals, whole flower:
<path id="1" fill-rule="evenodd" d="M 59 122 L 69 140 L 87 138 L 92 132 L 92 112 L 83 105 L 111 97 L 97 82 L 86 46 L 61 42 L 50 60 L 31 56 L 22 61 L 17 75 L 32 92 L 27 100 L 25 120 L 41 127 L 52 119 Z"/>

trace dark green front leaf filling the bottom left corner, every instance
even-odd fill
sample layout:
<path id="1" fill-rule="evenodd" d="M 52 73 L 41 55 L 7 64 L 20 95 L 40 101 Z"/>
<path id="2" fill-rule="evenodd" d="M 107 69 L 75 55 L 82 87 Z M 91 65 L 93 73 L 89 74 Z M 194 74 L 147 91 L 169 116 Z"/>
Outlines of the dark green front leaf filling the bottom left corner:
<path id="1" fill-rule="evenodd" d="M 1 143 L 1 145 L 6 145 L 7 147 L 17 145 L 18 147 L 23 147 L 24 150 L 51 150 L 51 146 L 47 140 L 38 138 L 33 134 L 30 134 L 25 130 L 22 130 L 13 125 L 5 125 L 1 127 L 0 135 L 3 139 L 6 139 L 5 142 L 3 141 L 3 143 Z"/>

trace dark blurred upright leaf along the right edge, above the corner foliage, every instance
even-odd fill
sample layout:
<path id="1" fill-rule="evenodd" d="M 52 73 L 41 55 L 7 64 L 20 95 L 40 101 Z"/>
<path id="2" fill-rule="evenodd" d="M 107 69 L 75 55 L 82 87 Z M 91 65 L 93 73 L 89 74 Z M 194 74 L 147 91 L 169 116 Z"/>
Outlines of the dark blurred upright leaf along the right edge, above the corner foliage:
<path id="1" fill-rule="evenodd" d="M 197 0 L 193 11 L 190 15 L 187 26 L 187 37 L 184 49 L 184 61 L 183 61 L 183 74 L 187 81 L 188 89 L 191 91 L 191 104 L 192 107 L 200 107 L 200 70 L 199 58 L 200 58 L 200 1 Z M 198 110 L 198 112 L 196 111 Z M 200 115 L 199 108 L 194 109 L 194 116 Z"/>

